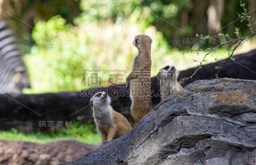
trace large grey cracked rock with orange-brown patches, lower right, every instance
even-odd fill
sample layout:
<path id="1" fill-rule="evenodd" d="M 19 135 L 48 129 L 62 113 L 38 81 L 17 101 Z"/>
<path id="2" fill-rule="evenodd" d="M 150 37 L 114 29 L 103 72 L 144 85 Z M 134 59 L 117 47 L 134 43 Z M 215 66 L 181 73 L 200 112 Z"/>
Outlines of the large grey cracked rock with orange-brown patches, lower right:
<path id="1" fill-rule="evenodd" d="M 256 81 L 221 78 L 186 86 L 129 133 L 71 164 L 256 164 Z"/>

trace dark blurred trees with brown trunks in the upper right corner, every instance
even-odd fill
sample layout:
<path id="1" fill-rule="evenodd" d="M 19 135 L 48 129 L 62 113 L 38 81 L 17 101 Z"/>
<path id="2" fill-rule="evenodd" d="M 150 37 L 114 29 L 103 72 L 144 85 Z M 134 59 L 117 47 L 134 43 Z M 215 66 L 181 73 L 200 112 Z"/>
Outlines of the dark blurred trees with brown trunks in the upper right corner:
<path id="1" fill-rule="evenodd" d="M 248 8 L 248 13 L 255 10 L 255 1 L 244 0 L 243 2 Z M 223 0 L 157 0 L 145 1 L 142 5 L 149 6 L 153 14 L 186 32 L 181 32 L 159 18 L 153 18 L 152 25 L 156 26 L 158 31 L 163 32 L 172 47 L 189 49 L 191 45 L 182 44 L 182 38 L 195 38 L 196 33 L 204 36 L 228 33 L 231 38 L 235 38 L 235 27 L 240 27 L 243 36 L 250 32 L 246 23 L 241 24 L 238 20 L 232 23 L 238 19 L 237 13 L 243 12 L 239 1 L 226 0 L 224 3 Z M 250 15 L 256 18 L 256 12 Z M 255 28 L 256 25 L 253 27 Z M 229 44 L 229 47 L 231 46 L 232 44 Z"/>

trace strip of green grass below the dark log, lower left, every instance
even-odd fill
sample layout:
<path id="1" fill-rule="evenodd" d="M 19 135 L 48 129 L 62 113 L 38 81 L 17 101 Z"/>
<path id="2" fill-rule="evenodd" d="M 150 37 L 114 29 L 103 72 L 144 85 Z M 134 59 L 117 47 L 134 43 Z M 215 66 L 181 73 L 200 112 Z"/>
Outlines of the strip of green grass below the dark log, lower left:
<path id="1" fill-rule="evenodd" d="M 50 129 L 50 133 L 22 133 L 18 132 L 15 128 L 11 128 L 10 131 L 0 131 L 0 140 L 29 141 L 44 144 L 62 139 L 72 139 L 87 144 L 96 144 L 101 142 L 99 134 L 95 132 L 94 125 L 81 125 L 78 122 L 72 123 L 71 127 L 61 129 L 52 127 L 52 129 Z"/>

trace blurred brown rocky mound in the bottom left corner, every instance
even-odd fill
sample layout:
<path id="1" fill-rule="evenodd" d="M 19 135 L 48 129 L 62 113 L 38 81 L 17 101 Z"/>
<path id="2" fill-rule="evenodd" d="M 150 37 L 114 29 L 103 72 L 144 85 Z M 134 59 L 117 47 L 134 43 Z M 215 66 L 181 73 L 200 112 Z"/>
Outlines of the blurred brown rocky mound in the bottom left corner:
<path id="1" fill-rule="evenodd" d="M 0 140 L 0 164 L 55 165 L 71 161 L 98 148 L 76 140 L 61 140 L 38 144 Z"/>

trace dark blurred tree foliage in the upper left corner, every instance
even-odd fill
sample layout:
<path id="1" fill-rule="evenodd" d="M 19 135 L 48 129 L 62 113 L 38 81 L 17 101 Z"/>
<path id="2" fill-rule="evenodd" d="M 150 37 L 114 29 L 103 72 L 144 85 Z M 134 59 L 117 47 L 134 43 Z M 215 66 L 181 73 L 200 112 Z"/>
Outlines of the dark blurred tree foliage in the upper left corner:
<path id="1" fill-rule="evenodd" d="M 0 0 L 0 8 L 0 17 L 14 29 L 24 53 L 34 44 L 31 32 L 36 22 L 60 14 L 72 24 L 80 13 L 78 0 Z"/>

